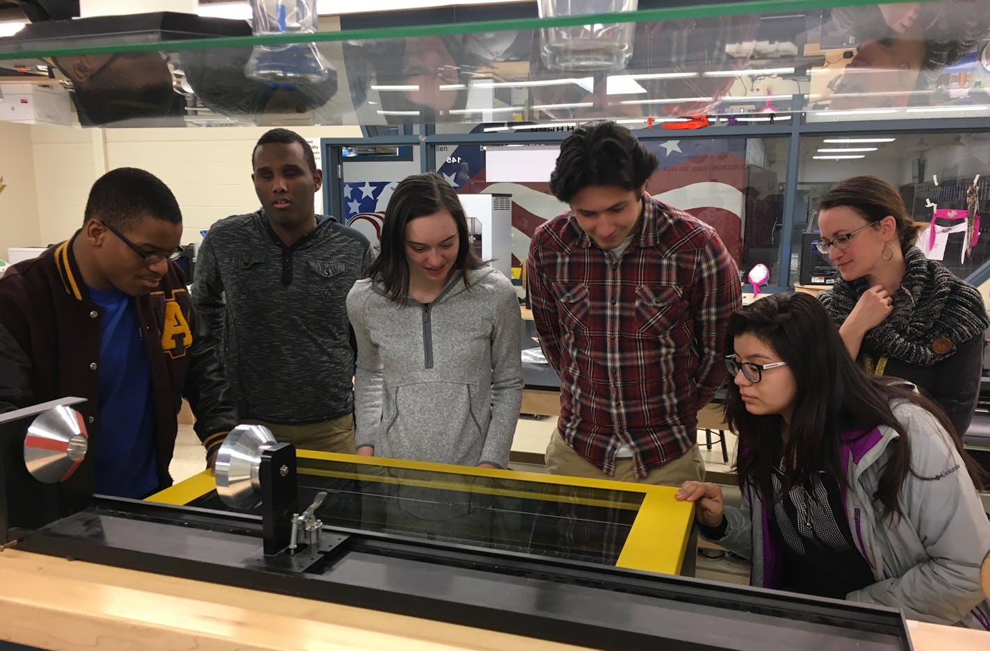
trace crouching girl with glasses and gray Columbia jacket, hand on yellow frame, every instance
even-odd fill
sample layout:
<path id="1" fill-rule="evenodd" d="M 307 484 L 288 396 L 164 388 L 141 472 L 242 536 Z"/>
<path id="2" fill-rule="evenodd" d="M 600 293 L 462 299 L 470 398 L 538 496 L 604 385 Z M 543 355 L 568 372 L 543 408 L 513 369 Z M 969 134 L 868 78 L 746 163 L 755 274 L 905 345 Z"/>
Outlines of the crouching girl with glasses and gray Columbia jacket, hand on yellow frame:
<path id="1" fill-rule="evenodd" d="M 743 508 L 687 482 L 701 534 L 751 558 L 756 586 L 990 630 L 981 472 L 941 408 L 867 376 L 807 294 L 743 308 L 728 340 Z"/>

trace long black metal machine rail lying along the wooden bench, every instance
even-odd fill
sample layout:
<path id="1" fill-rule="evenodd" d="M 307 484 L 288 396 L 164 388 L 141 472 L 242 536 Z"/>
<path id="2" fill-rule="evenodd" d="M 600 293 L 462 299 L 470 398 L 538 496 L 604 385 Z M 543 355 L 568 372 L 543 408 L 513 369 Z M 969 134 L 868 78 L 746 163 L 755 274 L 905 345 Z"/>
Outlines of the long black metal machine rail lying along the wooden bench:
<path id="1" fill-rule="evenodd" d="M 23 551 L 617 651 L 912 648 L 890 608 L 342 527 L 323 527 L 319 548 L 266 553 L 271 513 L 12 493 L 34 481 L 33 418 L 0 417 L 0 534 Z"/>

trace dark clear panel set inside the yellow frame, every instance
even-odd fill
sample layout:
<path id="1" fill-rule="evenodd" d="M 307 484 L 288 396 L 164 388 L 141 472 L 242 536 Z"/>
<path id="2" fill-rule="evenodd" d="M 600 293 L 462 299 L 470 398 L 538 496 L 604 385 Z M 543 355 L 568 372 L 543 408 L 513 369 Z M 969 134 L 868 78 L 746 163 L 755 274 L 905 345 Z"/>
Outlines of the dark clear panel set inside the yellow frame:
<path id="1" fill-rule="evenodd" d="M 644 494 L 299 459 L 325 524 L 614 565 Z M 216 493 L 190 506 L 228 509 Z"/>

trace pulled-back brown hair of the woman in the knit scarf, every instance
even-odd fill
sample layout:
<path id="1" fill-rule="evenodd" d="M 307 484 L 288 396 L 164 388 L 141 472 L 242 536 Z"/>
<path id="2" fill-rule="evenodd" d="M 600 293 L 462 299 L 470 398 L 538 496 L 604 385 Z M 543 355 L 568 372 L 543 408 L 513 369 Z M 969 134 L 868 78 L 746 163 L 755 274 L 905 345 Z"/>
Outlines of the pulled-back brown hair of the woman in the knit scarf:
<path id="1" fill-rule="evenodd" d="M 904 199 L 897 188 L 875 176 L 850 176 L 825 193 L 818 207 L 820 210 L 845 206 L 861 218 L 876 224 L 883 218 L 894 218 L 897 222 L 897 238 L 901 250 L 911 246 L 918 233 L 925 227 L 908 214 Z"/>

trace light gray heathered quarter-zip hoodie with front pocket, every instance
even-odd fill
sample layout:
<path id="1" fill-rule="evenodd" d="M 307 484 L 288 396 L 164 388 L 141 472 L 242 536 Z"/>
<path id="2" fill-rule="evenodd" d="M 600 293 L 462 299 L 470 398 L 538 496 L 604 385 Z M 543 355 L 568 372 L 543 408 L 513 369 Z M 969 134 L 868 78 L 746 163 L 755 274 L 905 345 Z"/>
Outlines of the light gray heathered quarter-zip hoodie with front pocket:
<path id="1" fill-rule="evenodd" d="M 522 319 L 491 267 L 455 273 L 429 306 L 391 301 L 369 279 L 347 294 L 357 339 L 357 447 L 376 456 L 501 468 L 523 397 Z"/>

